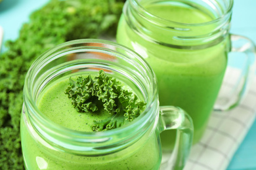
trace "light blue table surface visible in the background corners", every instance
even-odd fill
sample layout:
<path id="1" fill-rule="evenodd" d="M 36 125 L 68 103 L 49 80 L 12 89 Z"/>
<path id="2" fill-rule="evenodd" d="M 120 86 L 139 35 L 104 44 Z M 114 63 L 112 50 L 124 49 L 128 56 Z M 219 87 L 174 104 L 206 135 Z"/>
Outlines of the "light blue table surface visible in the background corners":
<path id="1" fill-rule="evenodd" d="M 0 25 L 5 31 L 3 42 L 16 39 L 22 24 L 29 21 L 31 12 L 39 9 L 48 1 L 4 0 L 0 3 Z M 234 0 L 231 33 L 244 35 L 256 43 L 255 0 Z M 2 47 L 2 52 L 4 50 L 6 49 Z M 256 121 L 234 154 L 227 169 L 256 169 Z"/>

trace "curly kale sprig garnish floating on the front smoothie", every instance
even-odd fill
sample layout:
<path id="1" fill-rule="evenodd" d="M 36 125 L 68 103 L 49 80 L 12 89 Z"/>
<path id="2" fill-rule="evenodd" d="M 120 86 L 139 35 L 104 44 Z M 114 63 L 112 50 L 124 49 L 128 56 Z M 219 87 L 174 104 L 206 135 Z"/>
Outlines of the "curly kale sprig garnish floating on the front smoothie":
<path id="1" fill-rule="evenodd" d="M 105 131 L 123 126 L 137 118 L 146 103 L 139 101 L 133 92 L 123 89 L 121 82 L 107 76 L 100 70 L 94 78 L 91 75 L 76 80 L 70 78 L 65 93 L 72 100 L 78 112 L 96 112 L 104 109 L 112 116 L 105 120 L 95 121 L 93 131 Z"/>

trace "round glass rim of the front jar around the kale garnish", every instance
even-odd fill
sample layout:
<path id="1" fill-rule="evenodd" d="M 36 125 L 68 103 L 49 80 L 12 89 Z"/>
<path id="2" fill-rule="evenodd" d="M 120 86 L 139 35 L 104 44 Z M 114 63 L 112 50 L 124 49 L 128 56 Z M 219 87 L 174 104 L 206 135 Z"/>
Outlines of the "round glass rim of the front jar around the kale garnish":
<path id="1" fill-rule="evenodd" d="M 144 111 L 140 114 L 140 116 L 138 118 L 136 118 L 135 120 L 133 120 L 133 122 L 130 122 L 129 124 L 127 124 L 127 126 L 121 126 L 115 129 L 111 129 L 108 131 L 100 131 L 100 132 L 84 132 L 84 131 L 75 131 L 73 129 L 68 129 L 66 127 L 60 126 L 56 123 L 54 123 L 53 121 L 49 121 L 49 118 L 47 118 L 36 106 L 35 100 L 32 97 L 32 83 L 33 83 L 33 74 L 34 72 L 36 72 L 37 69 L 37 65 L 40 65 L 41 62 L 43 62 L 45 59 L 53 57 L 54 53 L 58 50 L 60 50 L 61 48 L 64 48 L 66 46 L 70 46 L 70 45 L 75 45 L 75 44 L 85 44 L 85 43 L 99 43 L 99 44 L 106 44 L 107 46 L 115 46 L 116 48 L 120 48 L 122 50 L 124 50 L 125 52 L 127 52 L 127 55 L 129 54 L 129 56 L 133 56 L 134 59 L 138 59 L 138 61 L 140 61 L 140 63 L 142 63 L 143 65 L 140 65 L 141 67 L 144 67 L 144 69 L 146 71 L 148 71 L 148 78 L 150 78 L 150 80 L 152 80 L 151 84 L 150 84 L 150 88 L 152 90 L 152 97 L 149 100 L 149 102 L 146 105 L 146 108 L 144 109 Z M 90 46 L 89 46 L 90 48 Z M 104 50 L 104 48 L 100 48 L 101 50 Z M 108 49 L 108 48 L 106 48 Z M 127 56 L 128 59 L 133 59 L 133 58 L 129 58 Z M 135 60 L 134 60 L 135 61 Z M 39 66 L 40 67 L 40 66 Z M 94 143 L 102 143 L 104 142 L 103 139 L 106 139 L 108 137 L 110 137 L 111 135 L 118 135 L 118 134 L 123 134 L 124 131 L 135 131 L 136 129 L 138 130 L 139 128 L 141 128 L 142 126 L 145 126 L 146 123 L 148 123 L 148 120 L 150 120 L 150 124 L 152 124 L 154 118 L 156 117 L 156 112 L 150 112 L 149 110 L 152 109 L 152 107 L 154 107 L 154 103 L 158 103 L 158 89 L 157 89 L 157 82 L 156 82 L 156 75 L 154 74 L 154 71 L 152 71 L 152 68 L 150 67 L 150 65 L 146 62 L 146 60 L 144 58 L 142 58 L 139 54 L 137 54 L 137 52 L 133 52 L 133 50 L 127 48 L 126 46 L 123 46 L 121 44 L 117 44 L 116 42 L 111 42 L 111 41 L 106 41 L 106 40 L 100 40 L 100 39 L 79 39 L 79 40 L 74 40 L 74 41 L 68 41 L 68 42 L 64 42 L 62 44 L 59 44 L 57 46 L 55 46 L 54 48 L 51 48 L 49 50 L 47 50 L 45 53 L 41 54 L 41 56 L 39 56 L 39 58 L 37 58 L 32 66 L 30 67 L 26 78 L 25 78 L 25 84 L 24 84 L 24 103 L 26 105 L 26 107 L 28 107 L 32 114 L 30 114 L 31 118 L 33 120 L 36 120 L 37 122 L 39 121 L 39 124 L 41 124 L 43 126 L 43 124 L 47 124 L 49 122 L 51 122 L 51 126 L 49 126 L 49 124 L 47 126 L 47 128 L 51 129 L 52 131 L 58 132 L 61 135 L 65 135 L 65 134 L 72 134 L 68 137 L 66 137 L 66 139 L 70 139 L 70 137 L 74 137 L 75 139 L 77 139 L 77 141 L 79 142 L 84 142 L 85 139 L 88 139 L 88 142 L 94 142 Z M 145 121 L 146 120 L 146 121 Z M 103 140 L 103 141 L 102 141 Z"/>

